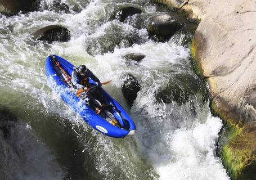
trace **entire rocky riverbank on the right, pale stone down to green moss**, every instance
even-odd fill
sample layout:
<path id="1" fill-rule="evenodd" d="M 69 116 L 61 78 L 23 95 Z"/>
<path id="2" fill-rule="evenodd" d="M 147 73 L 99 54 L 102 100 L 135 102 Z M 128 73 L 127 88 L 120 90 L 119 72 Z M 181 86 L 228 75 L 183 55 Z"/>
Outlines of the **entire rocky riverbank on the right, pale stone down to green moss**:
<path id="1" fill-rule="evenodd" d="M 224 127 L 218 154 L 231 179 L 256 179 L 254 1 L 158 1 L 201 20 L 191 52 Z"/>

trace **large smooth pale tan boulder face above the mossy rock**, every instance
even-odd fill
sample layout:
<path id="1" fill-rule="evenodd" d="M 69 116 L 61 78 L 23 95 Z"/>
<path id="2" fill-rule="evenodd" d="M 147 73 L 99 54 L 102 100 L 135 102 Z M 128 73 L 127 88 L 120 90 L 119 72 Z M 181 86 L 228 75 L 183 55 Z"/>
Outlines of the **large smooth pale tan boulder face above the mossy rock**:
<path id="1" fill-rule="evenodd" d="M 229 109 L 236 109 L 231 114 L 233 123 L 244 124 L 249 121 L 249 110 L 254 110 L 251 117 L 256 112 L 256 5 L 233 2 L 210 3 L 196 30 L 196 57 L 201 73 L 208 78 L 214 102 L 219 107 L 227 104 Z"/>

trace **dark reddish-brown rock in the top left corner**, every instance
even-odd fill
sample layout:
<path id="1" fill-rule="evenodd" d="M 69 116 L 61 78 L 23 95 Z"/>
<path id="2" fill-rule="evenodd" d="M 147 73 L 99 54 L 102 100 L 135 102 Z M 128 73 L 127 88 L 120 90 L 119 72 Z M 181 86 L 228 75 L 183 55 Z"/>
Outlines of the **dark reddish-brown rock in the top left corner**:
<path id="1" fill-rule="evenodd" d="M 39 0 L 1 0 L 0 13 L 14 15 L 19 11 L 36 11 L 39 7 Z"/>

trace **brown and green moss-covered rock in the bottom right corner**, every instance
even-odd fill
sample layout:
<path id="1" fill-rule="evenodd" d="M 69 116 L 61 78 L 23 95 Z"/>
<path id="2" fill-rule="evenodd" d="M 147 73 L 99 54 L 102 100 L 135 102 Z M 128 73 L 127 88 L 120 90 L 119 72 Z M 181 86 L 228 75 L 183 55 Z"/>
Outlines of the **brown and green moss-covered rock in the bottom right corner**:
<path id="1" fill-rule="evenodd" d="M 222 104 L 224 107 L 220 107 Z M 214 97 L 210 104 L 215 115 L 223 119 L 217 154 L 231 179 L 256 179 L 256 124 L 239 118 L 236 108 L 226 107 L 224 100 Z M 226 111 L 230 113 L 227 116 Z M 242 122 L 246 122 L 245 124 Z"/>

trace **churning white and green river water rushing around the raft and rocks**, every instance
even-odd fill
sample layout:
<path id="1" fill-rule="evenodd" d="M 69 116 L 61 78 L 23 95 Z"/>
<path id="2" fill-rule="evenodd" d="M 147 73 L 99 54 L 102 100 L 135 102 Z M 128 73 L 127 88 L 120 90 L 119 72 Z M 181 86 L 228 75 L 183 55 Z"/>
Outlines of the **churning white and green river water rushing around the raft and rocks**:
<path id="1" fill-rule="evenodd" d="M 146 31 L 148 17 L 170 12 L 142 0 L 62 2 L 71 13 L 48 11 L 52 1 L 44 1 L 38 12 L 0 15 L 0 113 L 10 116 L 0 116 L 8 124 L 6 136 L 0 133 L 0 179 L 229 179 L 215 155 L 221 119 L 210 114 L 203 81 L 182 46 L 186 35 L 161 43 Z M 142 13 L 113 19 L 125 5 Z M 30 35 L 52 24 L 70 29 L 71 40 L 47 44 Z M 127 53 L 146 57 L 127 62 Z M 101 82 L 111 79 L 105 89 L 133 118 L 136 136 L 106 137 L 65 105 L 44 75 L 50 54 L 86 64 Z M 127 72 L 141 84 L 132 107 L 120 88 Z M 193 92 L 188 101 L 156 98 L 173 83 Z"/>

